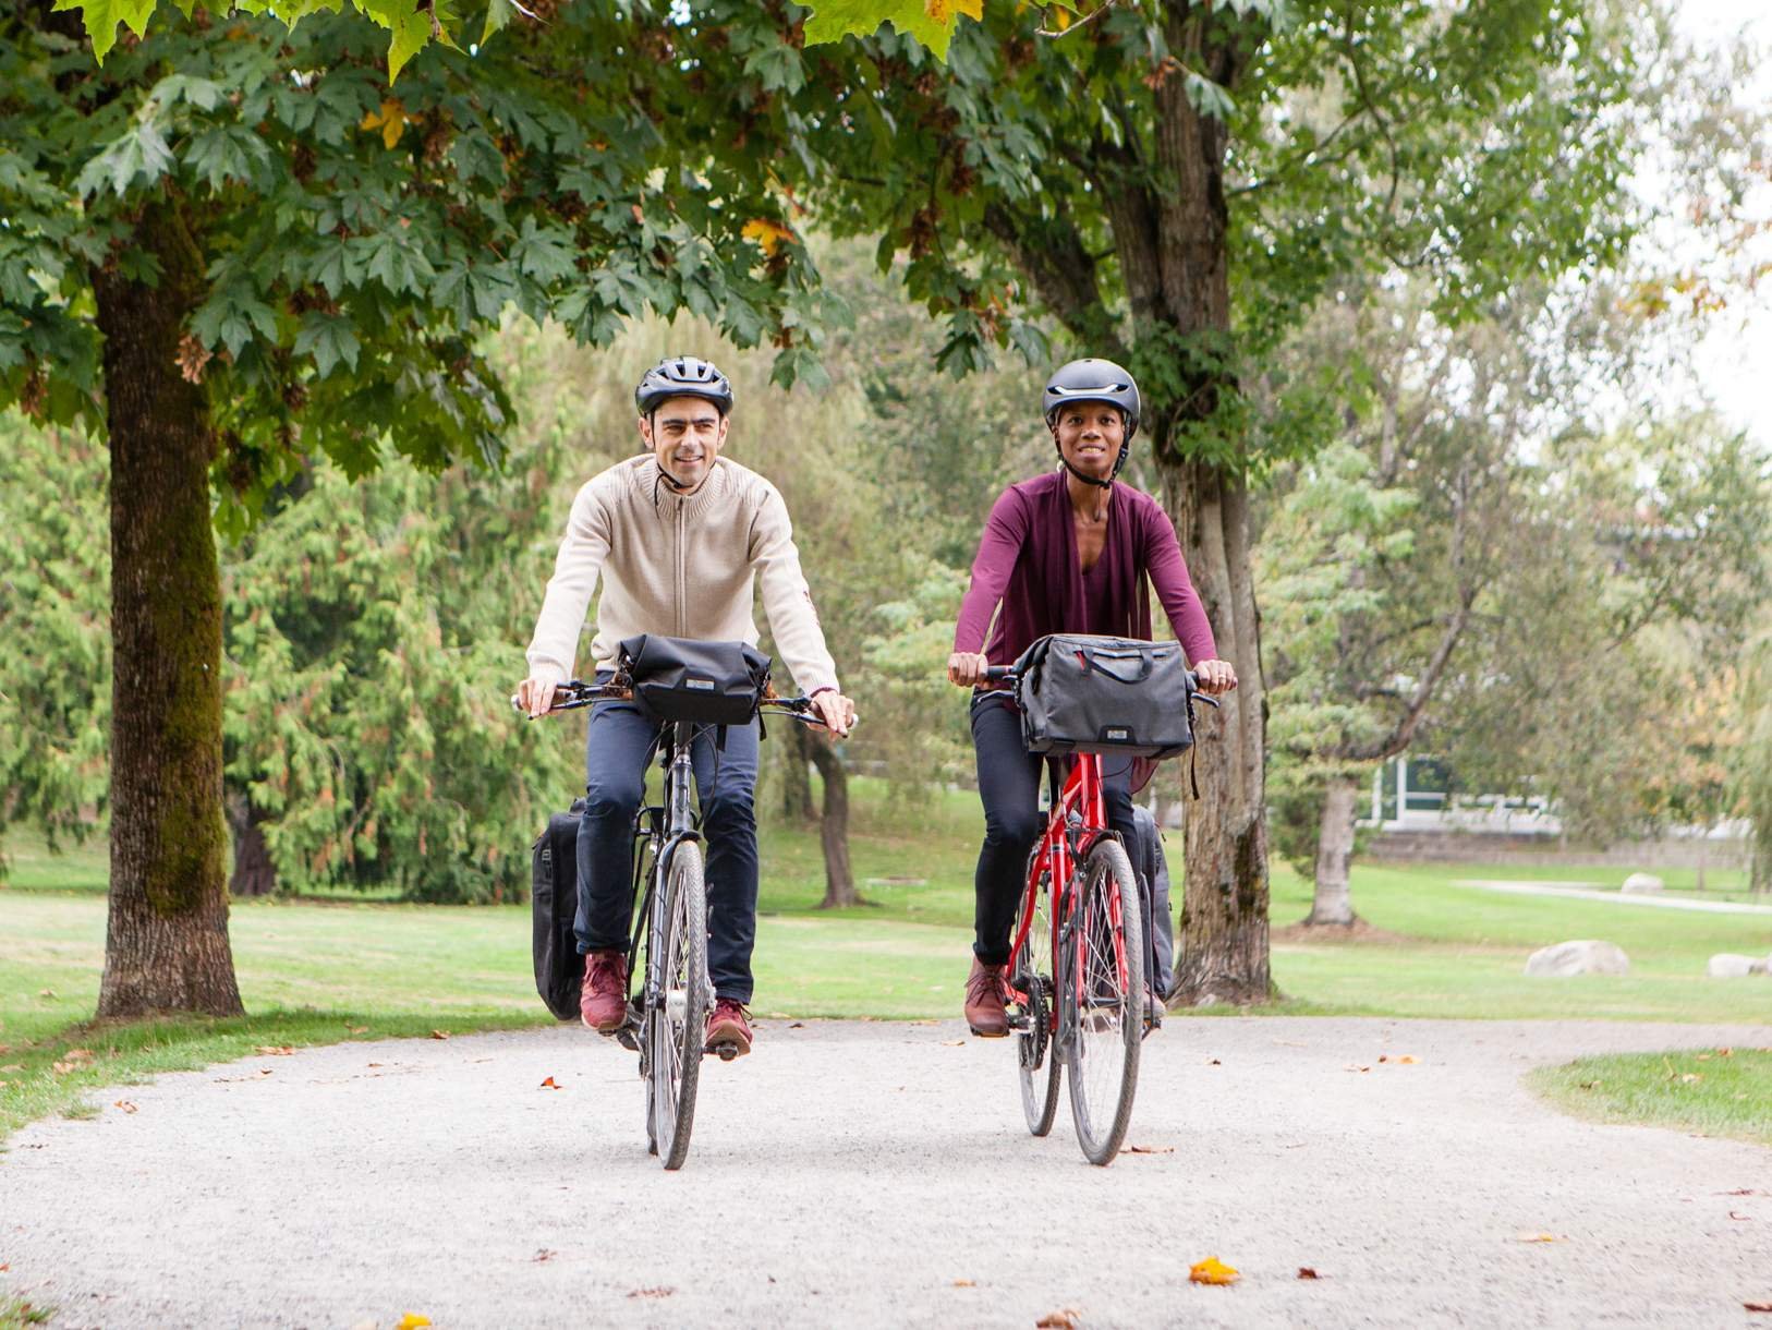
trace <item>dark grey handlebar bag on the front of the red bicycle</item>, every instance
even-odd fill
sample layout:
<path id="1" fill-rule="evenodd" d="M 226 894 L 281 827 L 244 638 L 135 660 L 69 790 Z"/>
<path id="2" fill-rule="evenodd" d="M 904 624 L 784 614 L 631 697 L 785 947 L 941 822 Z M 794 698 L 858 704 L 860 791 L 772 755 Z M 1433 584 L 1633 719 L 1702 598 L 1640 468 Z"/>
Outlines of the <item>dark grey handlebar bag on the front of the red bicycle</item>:
<path id="1" fill-rule="evenodd" d="M 1180 642 L 1053 633 L 1015 661 L 1028 752 L 1175 757 L 1194 743 Z"/>

